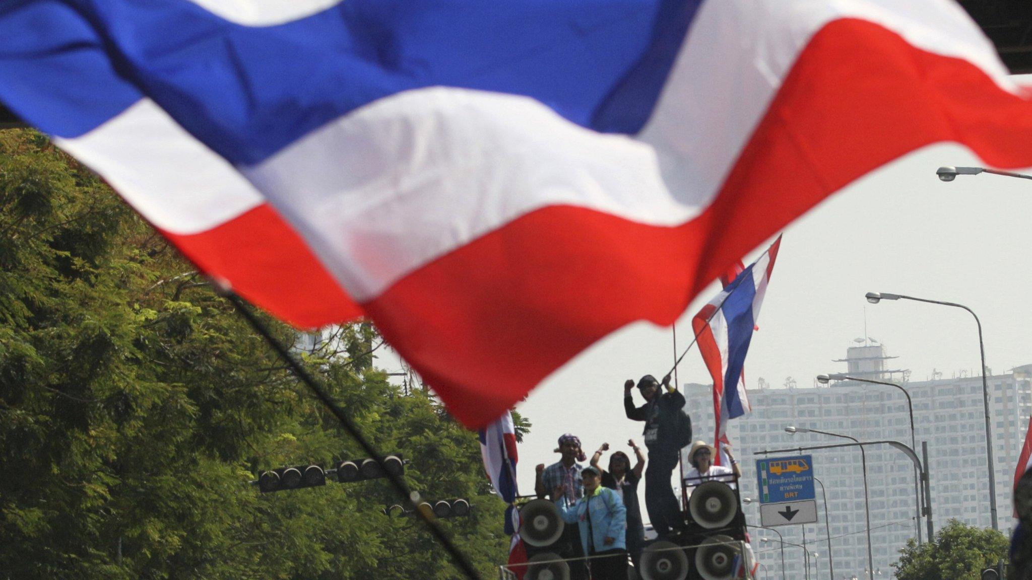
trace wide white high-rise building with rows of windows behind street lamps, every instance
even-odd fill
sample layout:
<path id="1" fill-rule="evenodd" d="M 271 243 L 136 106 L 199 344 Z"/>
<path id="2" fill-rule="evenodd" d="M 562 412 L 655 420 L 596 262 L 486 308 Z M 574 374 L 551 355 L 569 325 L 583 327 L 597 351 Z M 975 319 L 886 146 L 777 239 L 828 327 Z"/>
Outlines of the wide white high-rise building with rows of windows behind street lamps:
<path id="1" fill-rule="evenodd" d="M 902 384 L 913 399 L 917 454 L 929 446 L 932 516 L 935 529 L 949 519 L 989 527 L 989 474 L 981 377 L 902 382 L 903 372 L 884 367 L 889 357 L 879 345 L 848 349 L 849 372 L 866 379 Z M 841 372 L 845 369 L 833 369 Z M 895 379 L 894 379 L 895 378 Z M 910 444 L 906 398 L 898 389 L 859 382 L 833 382 L 801 388 L 761 388 L 748 391 L 752 413 L 731 422 L 728 434 L 743 468 L 742 495 L 756 497 L 756 452 L 800 446 L 848 443 L 816 433 L 788 434 L 789 425 L 847 434 L 860 441 L 896 440 Z M 1032 409 L 1032 364 L 989 377 L 990 414 L 1000 529 L 1009 534 L 1010 486 Z M 685 385 L 687 410 L 696 439 L 713 440 L 711 385 Z M 864 481 L 857 448 L 804 452 L 813 455 L 813 471 L 828 497 L 829 531 L 834 557 L 834 580 L 867 577 L 867 536 Z M 875 578 L 894 578 L 892 563 L 907 539 L 915 538 L 916 505 L 913 463 L 889 446 L 867 448 L 867 482 L 871 544 Z M 783 455 L 794 455 L 795 452 Z M 805 543 L 811 558 L 810 578 L 829 578 L 828 540 L 824 502 L 817 485 L 818 523 L 776 528 L 785 542 Z M 744 506 L 750 524 L 759 525 L 759 503 Z M 925 534 L 924 518 L 921 521 Z M 762 539 L 767 538 L 768 542 Z M 780 578 L 780 547 L 776 534 L 752 529 L 753 549 L 772 578 Z M 927 538 L 926 538 L 927 539 Z M 785 545 L 788 578 L 804 578 L 800 548 Z M 813 576 L 816 571 L 817 576 Z"/>

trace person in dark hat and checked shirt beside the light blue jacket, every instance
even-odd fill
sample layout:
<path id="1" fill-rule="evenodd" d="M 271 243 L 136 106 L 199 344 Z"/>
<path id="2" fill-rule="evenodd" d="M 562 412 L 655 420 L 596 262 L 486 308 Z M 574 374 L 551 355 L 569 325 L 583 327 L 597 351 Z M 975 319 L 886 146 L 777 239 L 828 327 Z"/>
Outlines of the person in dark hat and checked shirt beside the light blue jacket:
<path id="1" fill-rule="evenodd" d="M 572 433 L 566 433 L 559 438 L 559 446 L 556 451 L 561 455 L 558 461 L 545 466 L 541 463 L 537 466 L 537 477 L 535 481 L 535 492 L 538 497 L 545 498 L 551 492 L 553 502 L 561 503 L 565 506 L 573 506 L 584 494 L 584 485 L 581 478 L 581 471 L 584 465 L 579 461 L 584 461 L 587 457 L 581 449 L 580 439 Z M 561 489 L 561 494 L 556 494 L 556 490 Z M 581 548 L 580 533 L 576 526 L 568 525 L 562 533 L 562 538 L 557 545 L 562 546 L 559 551 L 565 556 L 573 558 L 583 558 L 584 552 Z M 570 562 L 571 580 L 585 580 L 587 578 L 587 568 L 584 560 Z"/>

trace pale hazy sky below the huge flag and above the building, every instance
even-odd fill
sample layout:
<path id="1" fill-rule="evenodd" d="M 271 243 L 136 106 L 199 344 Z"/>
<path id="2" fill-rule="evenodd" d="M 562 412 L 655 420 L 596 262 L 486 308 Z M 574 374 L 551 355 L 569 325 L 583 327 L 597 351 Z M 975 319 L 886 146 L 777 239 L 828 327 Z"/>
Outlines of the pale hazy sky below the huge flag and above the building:
<path id="1" fill-rule="evenodd" d="M 981 163 L 961 147 L 926 148 L 853 183 L 784 230 L 746 359 L 750 388 L 761 377 L 775 387 L 792 377 L 804 387 L 818 374 L 844 372 L 844 363 L 832 360 L 864 336 L 865 312 L 867 335 L 898 355 L 893 367 L 911 369 L 911 380 L 933 369 L 947 378 L 976 373 L 977 332 L 968 313 L 902 300 L 868 304 L 868 291 L 966 304 L 981 319 L 994 374 L 1032 363 L 1032 182 L 981 174 L 943 183 L 935 175 L 940 165 Z M 680 348 L 690 341 L 691 316 L 717 291 L 711 286 L 681 317 Z M 387 357 L 380 363 L 391 364 Z M 580 437 L 589 456 L 603 441 L 616 448 L 628 438 L 641 443 L 642 423 L 623 415 L 623 381 L 662 377 L 672 363 L 671 329 L 636 323 L 544 381 L 519 407 L 534 423 L 519 448 L 520 491 L 534 491 L 536 463 L 558 459 L 552 449 L 563 432 Z M 711 383 L 695 348 L 678 376 L 682 384 Z"/>

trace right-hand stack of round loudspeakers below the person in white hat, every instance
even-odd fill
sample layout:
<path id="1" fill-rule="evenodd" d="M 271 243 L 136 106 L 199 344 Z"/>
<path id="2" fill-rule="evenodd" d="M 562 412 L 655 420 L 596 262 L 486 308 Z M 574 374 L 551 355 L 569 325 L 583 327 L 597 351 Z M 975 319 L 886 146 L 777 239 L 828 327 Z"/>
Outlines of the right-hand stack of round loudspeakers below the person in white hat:
<path id="1" fill-rule="evenodd" d="M 644 580 L 734 580 L 736 559 L 751 569 L 737 477 L 734 482 L 734 486 L 723 481 L 695 486 L 682 513 L 684 529 L 652 542 L 642 552 L 639 574 Z"/>

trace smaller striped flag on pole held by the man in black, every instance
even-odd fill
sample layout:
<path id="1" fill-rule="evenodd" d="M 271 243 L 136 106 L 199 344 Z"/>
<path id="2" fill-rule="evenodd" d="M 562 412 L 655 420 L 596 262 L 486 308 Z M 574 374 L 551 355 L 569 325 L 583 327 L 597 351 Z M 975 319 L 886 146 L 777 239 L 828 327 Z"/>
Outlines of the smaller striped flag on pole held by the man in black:
<path id="1" fill-rule="evenodd" d="M 728 443 L 724 434 L 728 421 L 751 410 L 745 382 L 741 380 L 742 368 L 780 246 L 779 235 L 760 259 L 743 269 L 691 319 L 699 352 L 713 378 L 714 445 L 718 450 Z M 720 464 L 721 454 L 717 453 L 714 460 Z"/>

